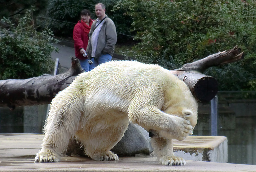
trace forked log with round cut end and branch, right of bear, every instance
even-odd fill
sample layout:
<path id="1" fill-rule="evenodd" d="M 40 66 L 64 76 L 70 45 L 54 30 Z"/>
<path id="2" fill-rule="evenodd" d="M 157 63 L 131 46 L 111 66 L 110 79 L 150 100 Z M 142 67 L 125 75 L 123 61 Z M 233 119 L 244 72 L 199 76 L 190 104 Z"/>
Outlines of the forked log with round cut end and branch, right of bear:
<path id="1" fill-rule="evenodd" d="M 209 67 L 232 63 L 243 59 L 244 56 L 244 52 L 235 46 L 231 50 L 218 52 L 201 60 L 184 64 L 181 68 L 171 70 L 171 72 L 188 85 L 198 101 L 208 102 L 218 93 L 218 82 L 215 78 L 201 73 Z"/>

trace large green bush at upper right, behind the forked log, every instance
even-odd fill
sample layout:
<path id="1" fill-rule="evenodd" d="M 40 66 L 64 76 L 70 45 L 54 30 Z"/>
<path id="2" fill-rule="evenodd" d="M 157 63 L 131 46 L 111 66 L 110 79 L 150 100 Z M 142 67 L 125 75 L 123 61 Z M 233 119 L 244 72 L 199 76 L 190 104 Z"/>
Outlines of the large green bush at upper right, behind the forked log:
<path id="1" fill-rule="evenodd" d="M 132 31 L 140 41 L 133 52 L 137 60 L 172 69 L 171 64 L 182 65 L 238 45 L 245 60 L 213 68 L 210 75 L 227 90 L 250 89 L 249 82 L 256 79 L 255 1 L 122 0 L 115 8 L 126 10 L 133 19 Z M 227 80 L 228 73 L 237 77 Z M 238 82 L 238 76 L 245 78 Z"/>

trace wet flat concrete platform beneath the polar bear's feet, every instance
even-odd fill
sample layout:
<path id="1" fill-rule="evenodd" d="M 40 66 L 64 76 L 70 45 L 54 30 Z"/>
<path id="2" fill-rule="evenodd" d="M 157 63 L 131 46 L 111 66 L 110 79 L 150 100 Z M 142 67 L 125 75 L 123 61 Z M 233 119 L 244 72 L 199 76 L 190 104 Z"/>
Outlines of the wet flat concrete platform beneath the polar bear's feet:
<path id="1" fill-rule="evenodd" d="M 197 136 L 194 136 L 197 137 Z M 119 157 L 119 161 L 93 161 L 86 157 L 62 157 L 58 163 L 34 163 L 40 149 L 41 134 L 0 134 L 0 172 L 2 171 L 173 171 L 173 172 L 256 172 L 256 165 L 213 163 L 188 160 L 185 166 L 164 166 L 156 158 Z M 191 138 L 192 139 L 192 138 Z M 193 140 L 193 139 L 192 139 Z M 186 149 L 185 141 L 181 149 Z M 204 141 L 197 141 L 194 147 Z M 213 145 L 212 140 L 207 142 Z M 209 144 L 210 143 L 210 144 Z M 187 144 L 187 145 L 186 145 Z M 193 144 L 192 144 L 193 145 Z M 175 142 L 175 149 L 177 142 Z M 178 146 L 177 146 L 178 147 Z M 182 148 L 183 147 L 183 148 Z M 192 146 L 193 147 L 193 146 Z M 210 147 L 210 146 L 208 146 Z"/>

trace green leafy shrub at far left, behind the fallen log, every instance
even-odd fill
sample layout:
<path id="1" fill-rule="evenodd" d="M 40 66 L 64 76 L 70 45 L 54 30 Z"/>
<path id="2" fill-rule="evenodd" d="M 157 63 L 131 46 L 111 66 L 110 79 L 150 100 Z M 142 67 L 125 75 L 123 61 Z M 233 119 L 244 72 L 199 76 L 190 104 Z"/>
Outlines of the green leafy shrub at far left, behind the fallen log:
<path id="1" fill-rule="evenodd" d="M 53 68 L 51 53 L 57 51 L 51 30 L 37 32 L 32 20 L 32 11 L 19 17 L 15 26 L 9 19 L 2 22 L 10 29 L 0 29 L 0 79 L 25 79 L 50 73 Z"/>

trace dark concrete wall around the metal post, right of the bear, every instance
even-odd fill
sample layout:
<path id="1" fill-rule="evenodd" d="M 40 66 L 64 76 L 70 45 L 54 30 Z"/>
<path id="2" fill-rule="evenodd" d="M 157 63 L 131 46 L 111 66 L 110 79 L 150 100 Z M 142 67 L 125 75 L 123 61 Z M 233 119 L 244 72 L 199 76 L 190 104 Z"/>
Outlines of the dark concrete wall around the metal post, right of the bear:
<path id="1" fill-rule="evenodd" d="M 228 139 L 228 163 L 256 165 L 256 100 L 221 101 L 218 136 Z M 210 106 L 199 107 L 194 135 L 210 135 Z"/>

